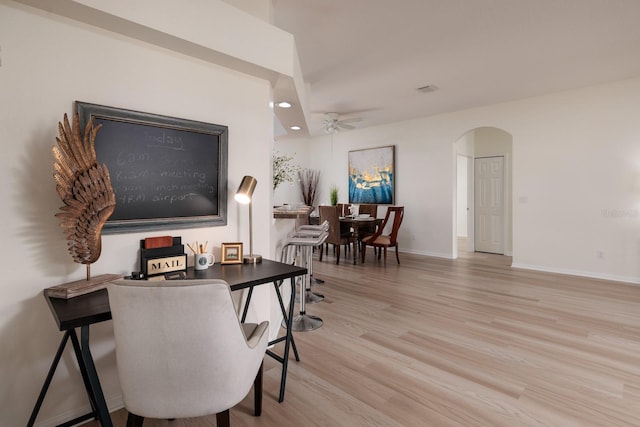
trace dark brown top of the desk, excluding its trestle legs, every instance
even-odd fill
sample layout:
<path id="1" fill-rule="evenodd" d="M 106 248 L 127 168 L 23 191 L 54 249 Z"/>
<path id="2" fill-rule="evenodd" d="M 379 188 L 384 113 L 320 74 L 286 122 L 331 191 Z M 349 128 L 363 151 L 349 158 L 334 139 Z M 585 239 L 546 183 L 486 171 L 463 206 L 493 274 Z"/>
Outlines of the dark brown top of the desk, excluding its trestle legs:
<path id="1" fill-rule="evenodd" d="M 222 279 L 232 291 L 250 288 L 263 283 L 302 276 L 306 268 L 263 259 L 258 264 L 215 264 L 207 270 L 187 270 L 190 279 Z M 61 331 L 104 322 L 111 319 L 111 307 L 106 289 L 71 299 L 51 298 L 45 294 L 51 313 Z"/>

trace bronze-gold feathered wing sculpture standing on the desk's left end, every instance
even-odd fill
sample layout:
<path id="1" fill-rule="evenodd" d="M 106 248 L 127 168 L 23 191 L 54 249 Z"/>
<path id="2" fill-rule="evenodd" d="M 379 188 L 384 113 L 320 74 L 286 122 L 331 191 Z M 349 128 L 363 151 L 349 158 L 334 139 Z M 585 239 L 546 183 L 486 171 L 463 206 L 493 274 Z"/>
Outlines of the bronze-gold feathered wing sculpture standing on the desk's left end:
<path id="1" fill-rule="evenodd" d="M 64 123 L 58 123 L 60 137 L 56 137 L 58 145 L 53 147 L 53 177 L 64 203 L 56 217 L 67 236 L 71 257 L 87 265 L 89 280 L 89 266 L 102 250 L 102 227 L 113 213 L 116 199 L 109 170 L 105 164 L 98 164 L 96 158 L 94 142 L 102 125 L 94 126 L 91 118 L 83 136 L 79 122 L 76 113 L 73 126 L 66 114 Z"/>

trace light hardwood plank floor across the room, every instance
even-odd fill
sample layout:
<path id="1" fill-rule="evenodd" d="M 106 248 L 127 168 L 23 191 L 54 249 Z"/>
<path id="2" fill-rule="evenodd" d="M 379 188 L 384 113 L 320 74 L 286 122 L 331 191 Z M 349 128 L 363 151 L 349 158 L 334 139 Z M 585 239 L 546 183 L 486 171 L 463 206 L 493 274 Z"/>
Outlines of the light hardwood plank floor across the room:
<path id="1" fill-rule="evenodd" d="M 498 255 L 400 260 L 316 259 L 325 300 L 307 312 L 324 325 L 295 333 L 284 403 L 267 357 L 262 416 L 249 396 L 232 426 L 640 426 L 640 286 Z M 204 425 L 215 417 L 145 421 Z"/>

